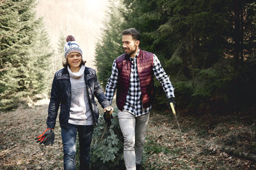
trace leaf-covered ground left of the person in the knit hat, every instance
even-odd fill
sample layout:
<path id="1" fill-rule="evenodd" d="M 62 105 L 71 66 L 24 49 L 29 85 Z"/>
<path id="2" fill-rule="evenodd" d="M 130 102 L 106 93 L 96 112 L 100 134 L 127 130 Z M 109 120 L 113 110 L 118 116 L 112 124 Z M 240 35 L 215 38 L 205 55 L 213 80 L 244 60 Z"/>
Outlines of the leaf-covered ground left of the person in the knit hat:
<path id="1" fill-rule="evenodd" d="M 0 114 L 0 169 L 63 169 L 58 122 L 54 145 L 36 143 L 35 137 L 47 126 L 46 118 L 47 105 Z"/>

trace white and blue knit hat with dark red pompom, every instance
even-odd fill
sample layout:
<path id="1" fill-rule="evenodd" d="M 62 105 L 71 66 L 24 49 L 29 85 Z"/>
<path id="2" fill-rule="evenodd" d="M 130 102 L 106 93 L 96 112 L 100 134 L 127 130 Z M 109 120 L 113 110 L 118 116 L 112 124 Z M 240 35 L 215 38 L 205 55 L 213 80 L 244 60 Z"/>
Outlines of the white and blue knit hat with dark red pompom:
<path id="1" fill-rule="evenodd" d="M 72 52 L 79 52 L 83 56 L 83 52 L 79 44 L 76 42 L 76 39 L 74 36 L 67 36 L 66 38 L 67 43 L 64 45 L 64 53 L 65 53 L 65 59 L 67 59 L 67 56 Z"/>

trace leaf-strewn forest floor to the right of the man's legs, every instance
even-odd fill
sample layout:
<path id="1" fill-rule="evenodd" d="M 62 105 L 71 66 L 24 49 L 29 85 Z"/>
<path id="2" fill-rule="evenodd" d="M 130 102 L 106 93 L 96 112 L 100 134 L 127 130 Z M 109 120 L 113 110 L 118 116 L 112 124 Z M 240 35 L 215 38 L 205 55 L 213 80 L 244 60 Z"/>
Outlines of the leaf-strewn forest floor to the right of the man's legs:
<path id="1" fill-rule="evenodd" d="M 150 115 L 146 169 L 256 169 L 255 108 L 225 116 L 178 111 L 177 120 L 182 137 L 172 113 Z"/>

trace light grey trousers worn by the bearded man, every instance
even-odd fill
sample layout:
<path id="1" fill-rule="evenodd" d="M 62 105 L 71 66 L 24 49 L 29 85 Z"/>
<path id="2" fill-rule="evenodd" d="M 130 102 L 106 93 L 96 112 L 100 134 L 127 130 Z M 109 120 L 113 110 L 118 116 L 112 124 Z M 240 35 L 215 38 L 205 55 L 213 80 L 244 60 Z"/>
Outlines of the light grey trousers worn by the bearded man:
<path id="1" fill-rule="evenodd" d="M 124 162 L 127 170 L 141 164 L 149 113 L 135 117 L 128 111 L 118 111 L 120 129 L 124 136 Z"/>

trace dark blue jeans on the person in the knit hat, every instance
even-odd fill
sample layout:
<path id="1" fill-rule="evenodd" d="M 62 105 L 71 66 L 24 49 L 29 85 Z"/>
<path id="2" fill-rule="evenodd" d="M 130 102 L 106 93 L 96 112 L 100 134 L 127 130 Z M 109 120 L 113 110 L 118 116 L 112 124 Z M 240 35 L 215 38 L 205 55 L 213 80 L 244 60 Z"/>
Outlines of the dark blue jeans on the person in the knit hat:
<path id="1" fill-rule="evenodd" d="M 90 169 L 90 145 L 92 142 L 93 125 L 68 124 L 61 128 L 61 138 L 64 152 L 64 169 L 76 169 L 76 134 L 79 138 L 80 169 Z"/>

